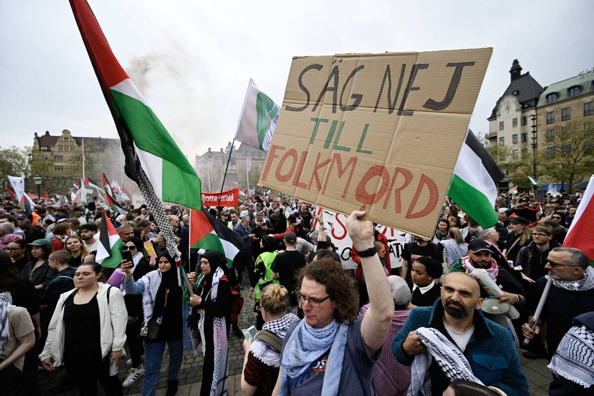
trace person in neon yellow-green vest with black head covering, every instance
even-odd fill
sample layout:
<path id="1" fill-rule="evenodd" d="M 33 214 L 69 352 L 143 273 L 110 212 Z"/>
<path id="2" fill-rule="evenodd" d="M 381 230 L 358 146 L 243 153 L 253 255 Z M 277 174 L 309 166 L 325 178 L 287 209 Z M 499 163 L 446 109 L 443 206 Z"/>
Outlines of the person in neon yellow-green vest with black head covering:
<path id="1" fill-rule="evenodd" d="M 270 235 L 264 235 L 260 239 L 260 249 L 262 253 L 256 258 L 255 272 L 258 274 L 258 279 L 255 284 L 252 284 L 249 288 L 248 296 L 252 296 L 255 299 L 254 303 L 254 315 L 256 316 L 256 328 L 262 330 L 264 325 L 264 319 L 258 306 L 260 306 L 260 297 L 264 287 L 269 284 L 279 283 L 278 280 L 274 279 L 274 272 L 272 271 L 272 263 L 276 257 L 276 249 L 279 248 L 276 239 Z"/>

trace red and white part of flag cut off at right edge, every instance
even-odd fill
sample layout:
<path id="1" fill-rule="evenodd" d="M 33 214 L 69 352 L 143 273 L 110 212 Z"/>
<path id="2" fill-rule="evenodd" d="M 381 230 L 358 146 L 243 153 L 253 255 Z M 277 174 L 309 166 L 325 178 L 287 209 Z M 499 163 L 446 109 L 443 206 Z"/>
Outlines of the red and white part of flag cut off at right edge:
<path id="1" fill-rule="evenodd" d="M 564 248 L 576 248 L 584 252 L 594 266 L 594 238 L 592 229 L 594 227 L 594 175 L 586 187 L 580 205 L 577 207 L 576 217 L 571 221 L 571 226 L 563 242 Z"/>

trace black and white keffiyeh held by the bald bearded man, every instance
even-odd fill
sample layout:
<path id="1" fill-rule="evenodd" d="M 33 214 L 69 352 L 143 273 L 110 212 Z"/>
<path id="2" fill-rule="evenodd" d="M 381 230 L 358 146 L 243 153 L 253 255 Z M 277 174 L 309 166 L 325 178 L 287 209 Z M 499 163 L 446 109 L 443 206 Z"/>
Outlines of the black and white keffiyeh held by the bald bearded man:
<path id="1" fill-rule="evenodd" d="M 437 362 L 445 376 L 451 380 L 466 379 L 484 385 L 472 373 L 470 363 L 464 354 L 445 335 L 434 328 L 426 327 L 418 328 L 416 334 L 419 335 L 427 350 L 416 355 L 412 366 L 410 366 L 410 388 L 406 393 L 407 396 L 416 396 L 419 392 L 423 396 L 431 396 L 429 366 L 431 366 L 432 360 Z"/>

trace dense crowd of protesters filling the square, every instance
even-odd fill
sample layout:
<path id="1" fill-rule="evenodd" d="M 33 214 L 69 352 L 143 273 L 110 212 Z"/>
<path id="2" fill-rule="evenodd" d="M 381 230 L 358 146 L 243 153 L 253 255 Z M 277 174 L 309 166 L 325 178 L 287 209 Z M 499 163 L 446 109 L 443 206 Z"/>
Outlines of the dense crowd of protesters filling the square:
<path id="1" fill-rule="evenodd" d="M 166 209 L 191 290 L 146 205 L 128 204 L 126 215 L 98 201 L 40 203 L 30 213 L 2 205 L 0 389 L 39 394 L 37 371 L 64 365 L 52 394 L 96 394 L 99 382 L 118 395 L 141 381 L 142 394 L 154 395 L 168 354 L 171 396 L 193 349 L 204 355 L 200 394 L 225 394 L 227 340 L 244 337 L 244 290 L 256 330 L 244 340 L 245 395 L 527 395 L 517 351 L 525 337 L 524 356 L 551 363 L 550 394 L 592 390 L 594 270 L 582 251 L 561 247 L 579 194 L 544 202 L 500 195 L 500 221 L 488 229 L 447 202 L 432 238 L 411 236 L 398 256 L 355 211 L 345 224 L 355 270 L 343 268 L 332 224 L 314 205 L 250 198 L 208 210 L 232 230 L 233 261 L 190 249 L 189 209 Z M 116 281 L 113 268 L 96 262 L 104 214 L 132 257 Z M 500 293 L 490 294 L 476 270 Z M 547 278 L 551 291 L 533 328 Z M 519 315 L 502 322 L 481 309 L 487 299 Z"/>

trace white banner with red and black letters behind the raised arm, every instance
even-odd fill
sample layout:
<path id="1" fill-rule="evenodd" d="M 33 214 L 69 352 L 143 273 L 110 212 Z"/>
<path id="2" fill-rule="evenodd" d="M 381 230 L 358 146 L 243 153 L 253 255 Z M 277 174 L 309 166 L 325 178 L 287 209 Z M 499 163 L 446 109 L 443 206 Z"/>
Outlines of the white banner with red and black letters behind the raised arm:
<path id="1" fill-rule="evenodd" d="M 353 242 L 350 239 L 349 234 L 346 232 L 346 216 L 326 209 L 324 209 L 322 213 L 324 224 L 327 224 L 328 226 L 328 235 L 330 235 L 332 243 L 336 246 L 336 252 L 340 256 L 342 266 L 347 270 L 357 268 L 357 264 L 350 258 Z M 315 229 L 320 229 L 317 222 L 315 224 Z M 390 246 L 391 267 L 402 267 L 402 251 L 405 247 L 405 243 L 410 240 L 410 234 L 395 230 L 391 227 L 381 226 L 380 224 L 378 224 L 375 229 L 385 235 L 388 240 L 388 245 Z"/>

